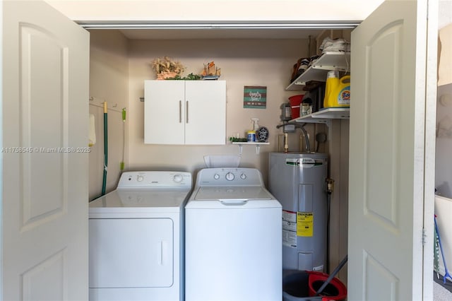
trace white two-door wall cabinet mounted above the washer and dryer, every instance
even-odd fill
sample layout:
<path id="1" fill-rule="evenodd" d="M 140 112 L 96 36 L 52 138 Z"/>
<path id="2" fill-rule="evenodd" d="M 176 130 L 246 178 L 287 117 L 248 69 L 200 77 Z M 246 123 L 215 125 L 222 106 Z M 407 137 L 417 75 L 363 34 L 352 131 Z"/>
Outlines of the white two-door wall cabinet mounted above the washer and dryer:
<path id="1" fill-rule="evenodd" d="M 225 81 L 145 81 L 144 95 L 144 143 L 226 143 Z"/>

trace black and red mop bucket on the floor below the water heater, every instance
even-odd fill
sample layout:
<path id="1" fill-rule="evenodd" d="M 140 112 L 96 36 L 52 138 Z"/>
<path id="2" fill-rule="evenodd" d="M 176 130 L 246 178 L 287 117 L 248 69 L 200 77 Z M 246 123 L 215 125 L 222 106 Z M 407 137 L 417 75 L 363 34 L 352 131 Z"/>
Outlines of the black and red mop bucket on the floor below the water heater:
<path id="1" fill-rule="evenodd" d="M 328 274 L 315 271 L 285 271 L 283 276 L 283 301 L 311 301 L 316 291 L 328 279 Z M 341 301 L 347 297 L 347 288 L 338 278 L 331 279 L 319 295 L 322 301 Z"/>

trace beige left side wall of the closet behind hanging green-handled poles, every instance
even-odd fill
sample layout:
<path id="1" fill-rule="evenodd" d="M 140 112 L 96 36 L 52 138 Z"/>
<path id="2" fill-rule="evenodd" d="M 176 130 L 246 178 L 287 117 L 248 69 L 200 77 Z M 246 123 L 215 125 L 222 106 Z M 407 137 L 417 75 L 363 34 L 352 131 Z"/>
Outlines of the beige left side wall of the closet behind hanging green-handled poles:
<path id="1" fill-rule="evenodd" d="M 90 114 L 95 115 L 96 129 L 96 143 L 89 155 L 89 197 L 93 199 L 102 191 L 104 169 L 104 110 L 94 104 L 106 101 L 109 107 L 107 191 L 117 186 L 122 160 L 123 122 L 118 111 L 129 106 L 129 57 L 128 41 L 117 30 L 90 33 L 90 97 Z"/>

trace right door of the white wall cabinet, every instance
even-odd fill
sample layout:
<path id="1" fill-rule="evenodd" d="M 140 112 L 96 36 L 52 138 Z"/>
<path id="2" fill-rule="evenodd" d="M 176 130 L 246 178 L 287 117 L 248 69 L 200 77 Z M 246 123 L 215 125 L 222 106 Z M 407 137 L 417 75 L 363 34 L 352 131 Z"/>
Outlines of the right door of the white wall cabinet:
<path id="1" fill-rule="evenodd" d="M 186 81 L 185 144 L 225 144 L 226 82 Z"/>

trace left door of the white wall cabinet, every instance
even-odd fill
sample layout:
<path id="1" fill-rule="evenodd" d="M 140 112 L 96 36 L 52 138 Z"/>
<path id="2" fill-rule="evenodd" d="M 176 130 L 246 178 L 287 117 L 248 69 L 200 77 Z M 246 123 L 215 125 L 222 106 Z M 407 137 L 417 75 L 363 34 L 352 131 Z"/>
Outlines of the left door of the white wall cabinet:
<path id="1" fill-rule="evenodd" d="M 184 81 L 145 81 L 144 143 L 184 144 Z"/>

